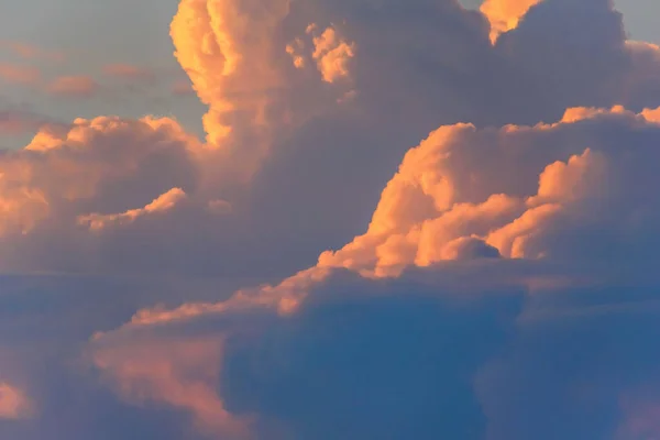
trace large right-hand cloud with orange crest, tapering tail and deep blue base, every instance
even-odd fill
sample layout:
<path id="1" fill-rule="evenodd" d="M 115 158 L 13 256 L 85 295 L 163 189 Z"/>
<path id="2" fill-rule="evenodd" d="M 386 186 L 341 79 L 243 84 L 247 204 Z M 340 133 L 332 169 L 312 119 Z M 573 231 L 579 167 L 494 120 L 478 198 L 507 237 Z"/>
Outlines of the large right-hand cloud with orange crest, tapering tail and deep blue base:
<path id="1" fill-rule="evenodd" d="M 380 437 L 383 432 L 397 432 L 396 437 L 400 438 L 420 422 L 425 427 L 421 438 L 437 438 L 447 432 L 461 433 L 462 438 L 482 438 L 486 432 L 490 432 L 488 436 L 494 432 L 493 438 L 529 438 L 532 431 L 526 431 L 526 425 L 509 419 L 510 415 L 517 414 L 517 403 L 507 400 L 507 413 L 504 413 L 505 407 L 492 407 L 492 399 L 502 393 L 501 386 L 509 384 L 516 376 L 522 378 L 510 386 L 531 386 L 524 384 L 527 383 L 526 375 L 537 376 L 534 373 L 538 370 L 534 366 L 537 359 L 550 363 L 556 358 L 569 362 L 569 358 L 559 355 L 550 348 L 547 352 L 532 355 L 534 361 L 530 361 L 529 366 L 526 364 L 524 372 L 515 373 L 517 365 L 521 363 L 516 356 L 526 355 L 530 346 L 536 346 L 528 345 L 527 332 L 534 331 L 537 326 L 543 326 L 542 322 L 547 320 L 561 323 L 563 314 L 593 315 L 593 326 L 606 328 L 610 326 L 610 316 L 618 317 L 628 310 L 625 299 L 609 297 L 610 292 L 616 292 L 616 287 L 612 286 L 631 283 L 636 286 L 639 300 L 646 301 L 653 287 L 645 287 L 645 284 L 656 286 L 658 283 L 652 274 L 647 276 L 648 264 L 654 264 L 654 258 L 646 261 L 646 257 L 649 255 L 647 249 L 656 249 L 649 237 L 649 228 L 656 223 L 660 209 L 653 202 L 654 186 L 648 180 L 654 178 L 656 173 L 645 164 L 656 162 L 653 157 L 657 157 L 658 148 L 654 145 L 659 129 L 660 125 L 647 120 L 644 113 L 637 114 L 618 108 L 609 111 L 570 109 L 564 120 L 554 124 L 507 125 L 483 130 L 468 124 L 440 128 L 406 155 L 397 174 L 383 191 L 367 232 L 334 253 L 323 253 L 317 266 L 301 271 L 278 285 L 241 289 L 230 299 L 220 302 L 189 302 L 176 309 L 141 310 L 117 331 L 98 334 L 92 346 L 99 344 L 99 350 L 103 352 L 107 346 L 122 346 L 136 336 L 143 336 L 146 345 L 142 350 L 147 350 L 146 346 L 169 340 L 172 334 L 199 338 L 208 332 L 222 336 L 226 341 L 233 341 L 237 345 L 226 342 L 223 364 L 217 366 L 223 372 L 229 369 L 231 373 L 223 373 L 227 374 L 227 385 L 224 388 L 218 386 L 223 394 L 217 394 L 216 399 L 223 402 L 223 408 L 233 410 L 235 415 L 258 416 L 252 424 L 253 432 L 260 432 L 260 424 L 267 426 L 273 417 L 286 426 L 283 429 L 288 436 L 315 438 L 337 438 L 349 432 L 360 432 L 358 437 Z M 635 146 L 627 147 L 627 144 L 620 143 L 622 140 L 627 140 Z M 584 148 L 585 144 L 590 146 Z M 565 160 L 556 160 L 557 157 Z M 525 168 L 519 167 L 522 163 Z M 616 255 L 622 254 L 627 255 L 626 262 L 616 260 Z M 363 278 L 356 275 L 343 278 L 343 270 Z M 582 304 L 581 301 L 586 300 L 586 297 L 581 296 L 584 292 L 594 293 L 590 302 L 603 306 L 598 308 L 593 304 Z M 428 299 L 418 302 L 422 293 L 422 297 Z M 522 314 L 517 318 L 519 324 L 514 319 L 515 310 L 520 307 L 518 294 L 529 294 L 530 298 L 536 298 L 525 305 Z M 449 322 L 449 317 L 459 319 L 459 316 L 461 320 L 483 318 L 484 322 L 491 322 L 490 319 L 498 316 L 495 311 L 498 309 L 493 308 L 493 302 L 484 299 L 484 295 L 495 298 L 495 301 L 501 300 L 503 310 L 514 314 L 505 321 L 514 327 L 519 326 L 512 337 L 513 348 L 506 350 L 504 348 L 508 343 L 496 343 L 498 356 L 502 358 L 494 359 L 486 354 L 492 353 L 493 349 L 473 348 L 470 355 L 481 361 L 471 364 L 466 383 L 459 382 L 463 384 L 463 388 L 452 388 L 449 392 L 452 400 L 447 400 L 449 397 L 442 395 L 441 391 L 448 389 L 446 382 L 438 384 L 439 378 L 424 376 L 414 370 L 416 365 L 424 365 L 422 361 L 405 365 L 393 361 L 393 367 L 399 365 L 405 369 L 400 372 L 395 370 L 403 377 L 425 377 L 421 381 L 424 387 L 420 383 L 419 389 L 428 389 L 429 383 L 438 384 L 438 388 L 431 395 L 407 395 L 407 402 L 411 403 L 417 416 L 402 414 L 400 405 L 396 405 L 396 410 L 394 406 L 386 406 L 388 393 L 400 396 L 411 393 L 418 386 L 406 381 L 395 381 L 393 377 L 399 376 L 394 372 L 387 373 L 391 372 L 387 360 L 392 355 L 400 355 L 400 351 L 410 343 L 404 341 L 395 345 L 388 344 L 396 341 L 399 331 L 403 331 L 393 327 L 393 322 L 398 322 L 399 319 L 400 322 L 424 322 L 420 328 L 425 332 L 413 339 L 419 341 L 428 337 L 429 341 L 440 344 L 438 338 L 446 333 L 444 330 L 429 330 L 431 316 L 432 320 L 446 323 Z M 553 299 L 562 295 L 569 295 L 565 305 Z M 392 309 L 389 300 L 393 301 Z M 426 302 L 427 300 L 430 302 Z M 465 316 L 448 306 L 444 300 L 449 300 L 450 305 L 452 300 L 469 301 L 473 306 L 476 301 L 477 306 L 474 306 L 476 310 L 470 309 Z M 438 304 L 442 305 L 438 306 L 441 307 L 440 310 L 433 309 L 432 305 Z M 477 311 L 482 310 L 480 305 L 484 305 L 485 315 Z M 410 311 L 410 317 L 406 315 L 408 307 L 415 310 Z M 449 307 L 447 310 L 451 311 L 444 311 L 444 307 Z M 601 318 L 603 307 L 604 316 Z M 435 311 L 428 318 L 417 315 L 431 309 Z M 383 333 L 385 327 L 378 324 L 381 312 L 384 314 L 383 322 L 387 323 L 393 334 Z M 323 326 L 326 314 L 337 314 L 337 317 L 330 320 L 328 329 L 319 329 L 317 326 Z M 543 314 L 548 315 L 543 317 Z M 354 323 L 348 321 L 351 316 L 355 316 Z M 439 319 L 439 316 L 444 318 Z M 654 319 L 654 316 L 649 319 Z M 343 331 L 339 330 L 341 326 L 336 319 L 344 326 Z M 644 322 L 646 326 L 647 321 Z M 279 326 L 285 330 L 279 330 Z M 576 326 L 570 334 L 591 338 L 592 329 L 588 324 L 578 322 Z M 477 333 L 504 331 L 495 329 L 484 329 Z M 364 341 L 360 342 L 363 331 Z M 569 334 L 564 331 L 566 330 L 563 328 L 554 329 L 550 334 L 543 333 L 542 338 L 561 340 L 563 334 Z M 257 336 L 253 332 L 257 332 Z M 278 332 L 282 332 L 283 340 L 277 339 L 280 334 Z M 380 339 L 374 340 L 374 334 L 382 336 L 382 342 Z M 450 331 L 449 334 L 454 333 Z M 465 341 L 466 337 L 460 334 L 455 338 Z M 243 342 L 244 338 L 248 342 Z M 245 343 L 249 348 L 245 348 Z M 384 344 L 384 351 L 380 351 L 380 343 Z M 470 345 L 470 342 L 465 343 Z M 536 343 L 538 346 L 542 345 L 540 342 Z M 273 350 L 276 350 L 277 355 L 273 356 L 286 356 L 288 361 L 282 366 L 275 360 L 278 358 L 275 358 L 272 367 L 267 364 L 264 366 L 270 352 L 266 348 L 262 349 L 262 344 L 275 346 Z M 374 351 L 365 351 L 370 344 L 375 344 L 372 345 L 376 346 Z M 442 351 L 453 346 L 451 342 L 447 344 L 440 345 L 442 349 L 439 349 L 439 360 L 452 358 Z M 237 346 L 238 353 L 232 351 L 232 346 Z M 616 346 L 617 350 L 623 350 L 624 345 Z M 428 362 L 432 363 L 428 358 L 428 345 L 418 348 L 419 352 L 405 354 L 402 359 L 417 359 L 416 356 L 426 353 L 426 365 Z M 395 349 L 396 354 L 393 354 Z M 364 358 L 361 358 L 362 352 L 365 353 Z M 634 352 L 629 358 L 630 362 L 639 362 L 640 355 Z M 323 381 L 320 380 L 321 371 L 324 370 L 319 370 L 320 366 L 314 361 L 319 356 L 327 356 L 323 363 L 326 367 L 328 363 L 337 362 L 330 364 L 336 366 L 329 370 L 336 376 L 329 380 L 327 373 L 323 375 L 330 381 L 328 388 L 322 387 Z M 513 361 L 509 361 L 509 356 Z M 349 360 L 353 370 L 346 370 Z M 504 370 L 499 366 L 502 362 L 506 364 Z M 658 359 L 653 358 L 649 362 L 657 365 Z M 244 385 L 241 385 L 241 377 L 249 374 L 249 365 L 255 365 L 254 376 L 244 378 Z M 370 365 L 374 365 L 373 370 L 370 370 Z M 463 364 L 460 365 L 438 363 L 430 371 L 437 375 L 438 369 L 449 369 L 442 370 L 446 372 L 442 381 L 455 384 L 457 372 L 465 372 Z M 105 374 L 120 374 L 112 366 L 99 363 L 97 366 L 103 371 L 109 370 Z M 264 373 L 260 373 L 262 367 L 270 373 L 264 376 Z M 619 371 L 617 369 L 613 370 L 613 375 Z M 571 372 L 573 374 L 573 370 Z M 383 381 L 387 378 L 394 382 L 365 383 L 360 380 L 376 373 L 383 374 Z M 308 394 L 307 388 L 298 388 L 298 382 L 294 380 L 307 377 L 307 374 L 310 376 L 305 381 L 306 384 L 319 384 L 315 398 Z M 539 373 L 541 374 L 546 373 Z M 547 382 L 542 377 L 544 376 L 538 380 L 539 383 Z M 550 377 L 564 386 L 561 376 Z M 477 380 L 475 388 L 470 385 L 471 378 Z M 180 386 L 180 381 L 177 384 Z M 398 386 L 404 386 L 403 384 L 407 385 L 399 389 Z M 618 408 L 618 395 L 632 385 L 626 380 L 608 391 L 608 405 Z M 358 389 L 363 394 L 354 395 Z M 543 389 L 539 389 L 539 396 L 546 396 Z M 384 395 L 377 397 L 381 392 Z M 283 403 L 282 396 L 285 395 L 289 399 L 285 402 L 289 404 Z M 360 396 L 364 396 L 366 400 L 360 403 Z M 484 414 L 475 404 L 475 396 L 484 403 Z M 160 402 L 167 403 L 170 398 L 161 396 Z M 435 416 L 429 415 L 428 420 L 424 419 L 427 413 L 418 414 L 420 408 L 451 408 L 449 402 L 454 402 L 455 405 L 455 398 L 460 399 L 460 405 L 465 405 L 461 407 L 462 417 L 465 418 L 452 416 L 449 409 L 449 413 L 432 413 Z M 319 403 L 319 406 L 312 402 Z M 339 409 L 345 408 L 349 402 L 358 402 L 358 406 L 354 410 L 344 413 L 360 414 L 361 419 L 338 421 Z M 377 403 L 382 403 L 382 406 Z M 606 414 L 618 414 L 618 409 L 609 408 L 607 406 L 603 410 L 607 410 Z M 377 424 L 370 418 L 372 415 L 383 414 L 382 411 L 388 415 L 385 420 L 392 425 Z M 471 416 L 466 417 L 466 414 Z M 488 424 L 485 422 L 484 415 L 487 416 Z M 618 416 L 609 417 L 616 419 Z M 537 413 L 527 418 L 542 419 Z M 381 417 L 378 419 L 383 420 Z M 570 420 L 566 418 L 558 427 L 559 431 L 552 431 L 552 436 L 570 432 Z M 594 424 L 592 419 L 585 420 L 580 429 L 584 430 L 584 435 L 595 430 L 614 432 L 616 429 L 609 425 L 596 427 Z M 349 429 L 348 426 L 352 428 Z M 518 436 L 516 429 L 522 429 L 521 432 L 526 433 Z M 287 435 L 283 436 L 286 438 Z"/>

